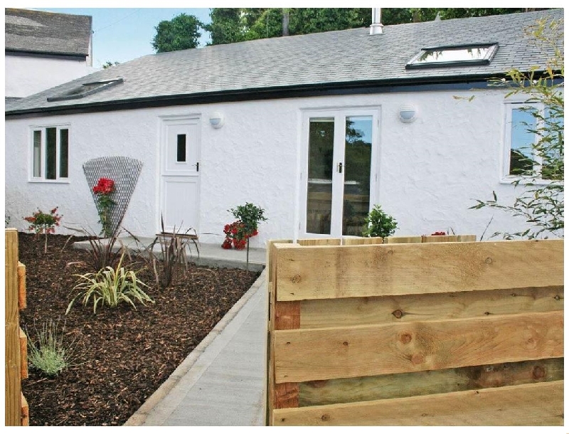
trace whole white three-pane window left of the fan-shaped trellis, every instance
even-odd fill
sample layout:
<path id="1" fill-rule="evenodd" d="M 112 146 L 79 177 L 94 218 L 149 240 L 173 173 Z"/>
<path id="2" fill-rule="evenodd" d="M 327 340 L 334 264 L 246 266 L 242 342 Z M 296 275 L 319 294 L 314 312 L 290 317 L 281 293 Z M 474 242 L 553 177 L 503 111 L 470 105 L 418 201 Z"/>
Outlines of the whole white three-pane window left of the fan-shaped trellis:
<path id="1" fill-rule="evenodd" d="M 67 181 L 69 176 L 69 126 L 33 127 L 31 181 Z"/>

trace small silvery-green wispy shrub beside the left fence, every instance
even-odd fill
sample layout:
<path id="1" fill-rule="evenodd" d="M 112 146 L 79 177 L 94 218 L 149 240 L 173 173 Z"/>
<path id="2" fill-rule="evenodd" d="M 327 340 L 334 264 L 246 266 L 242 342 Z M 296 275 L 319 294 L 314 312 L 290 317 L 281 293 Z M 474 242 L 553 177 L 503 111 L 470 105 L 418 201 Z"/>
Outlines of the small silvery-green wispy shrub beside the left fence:
<path id="1" fill-rule="evenodd" d="M 42 371 L 48 376 L 56 376 L 69 366 L 71 344 L 63 345 L 63 327 L 58 334 L 59 322 L 49 319 L 42 324 L 41 330 L 36 330 L 37 339 L 32 339 L 26 329 L 28 337 L 28 361 L 33 368 Z"/>

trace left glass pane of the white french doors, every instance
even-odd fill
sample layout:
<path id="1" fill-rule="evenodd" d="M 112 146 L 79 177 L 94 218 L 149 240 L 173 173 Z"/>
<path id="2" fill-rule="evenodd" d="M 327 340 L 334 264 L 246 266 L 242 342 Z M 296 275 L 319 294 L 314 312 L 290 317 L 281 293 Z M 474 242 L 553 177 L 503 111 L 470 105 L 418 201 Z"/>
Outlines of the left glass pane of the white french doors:
<path id="1" fill-rule="evenodd" d="M 309 120 L 307 233 L 330 234 L 334 117 Z"/>

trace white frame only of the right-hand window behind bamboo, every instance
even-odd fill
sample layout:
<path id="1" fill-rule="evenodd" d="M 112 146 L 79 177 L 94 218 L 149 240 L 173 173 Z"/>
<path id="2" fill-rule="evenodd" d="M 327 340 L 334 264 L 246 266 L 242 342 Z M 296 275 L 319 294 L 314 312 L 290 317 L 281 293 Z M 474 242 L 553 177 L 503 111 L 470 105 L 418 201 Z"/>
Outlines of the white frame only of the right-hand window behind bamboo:
<path id="1" fill-rule="evenodd" d="M 527 102 L 527 100 L 511 100 L 504 102 L 504 147 L 502 151 L 502 165 L 501 165 L 501 184 L 512 184 L 514 182 L 519 182 L 519 184 L 533 183 L 538 185 L 551 184 L 553 180 L 543 179 L 541 176 L 529 177 L 523 175 L 510 174 L 510 161 L 511 161 L 511 141 L 512 141 L 512 112 L 515 109 L 521 107 L 532 107 L 543 116 L 546 110 L 543 102 Z M 543 127 L 543 120 L 536 118 L 536 130 L 540 130 Z M 534 134 L 534 140 L 532 144 L 535 144 L 538 140 L 538 134 Z M 532 149 L 532 157 L 536 164 L 533 166 L 533 170 L 536 172 L 541 171 L 541 157 L 536 155 Z"/>

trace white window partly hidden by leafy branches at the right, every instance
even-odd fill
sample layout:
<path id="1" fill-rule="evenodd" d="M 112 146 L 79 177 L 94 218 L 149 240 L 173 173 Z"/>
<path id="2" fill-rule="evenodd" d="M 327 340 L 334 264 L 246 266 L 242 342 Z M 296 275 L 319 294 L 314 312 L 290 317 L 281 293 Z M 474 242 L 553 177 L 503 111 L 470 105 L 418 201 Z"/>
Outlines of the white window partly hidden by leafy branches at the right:
<path id="1" fill-rule="evenodd" d="M 541 138 L 540 132 L 543 134 L 549 122 L 560 122 L 563 128 L 563 118 L 552 120 L 549 111 L 542 104 L 506 104 L 503 181 L 523 181 L 524 173 L 533 171 L 538 175 L 537 178 L 541 177 L 543 182 L 548 182 L 548 168 L 543 165 L 543 154 L 536 152 L 535 144 Z"/>

